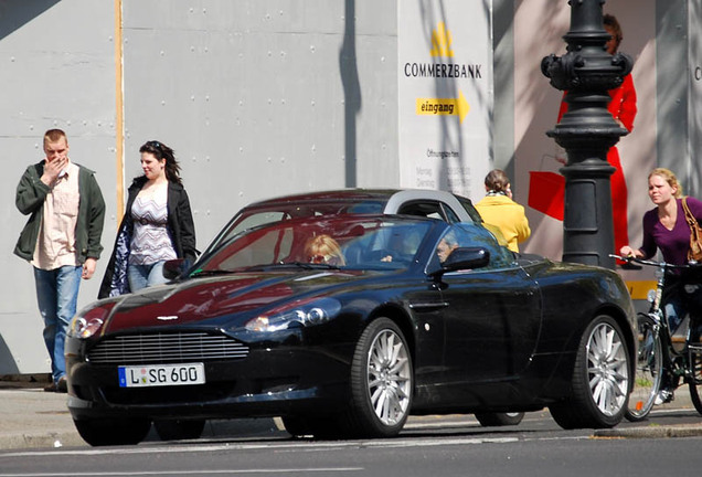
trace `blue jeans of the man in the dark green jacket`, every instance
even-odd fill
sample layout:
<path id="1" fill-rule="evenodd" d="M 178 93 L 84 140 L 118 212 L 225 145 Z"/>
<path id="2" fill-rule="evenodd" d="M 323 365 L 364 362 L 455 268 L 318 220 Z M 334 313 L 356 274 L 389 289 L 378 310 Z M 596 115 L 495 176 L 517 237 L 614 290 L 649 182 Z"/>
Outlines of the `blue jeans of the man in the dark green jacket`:
<path id="1" fill-rule="evenodd" d="M 34 268 L 36 301 L 44 318 L 44 342 L 54 382 L 66 374 L 66 330 L 75 315 L 83 267 L 70 265 L 53 271 Z"/>

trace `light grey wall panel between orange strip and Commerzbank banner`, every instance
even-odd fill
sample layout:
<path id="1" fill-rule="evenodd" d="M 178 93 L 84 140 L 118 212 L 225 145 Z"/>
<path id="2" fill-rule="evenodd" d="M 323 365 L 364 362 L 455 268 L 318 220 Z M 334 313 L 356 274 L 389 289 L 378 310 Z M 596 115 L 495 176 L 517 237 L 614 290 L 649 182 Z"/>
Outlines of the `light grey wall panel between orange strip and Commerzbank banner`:
<path id="1" fill-rule="evenodd" d="M 394 2 L 124 7 L 126 177 L 146 140 L 173 147 L 200 247 L 254 200 L 397 186 Z"/>

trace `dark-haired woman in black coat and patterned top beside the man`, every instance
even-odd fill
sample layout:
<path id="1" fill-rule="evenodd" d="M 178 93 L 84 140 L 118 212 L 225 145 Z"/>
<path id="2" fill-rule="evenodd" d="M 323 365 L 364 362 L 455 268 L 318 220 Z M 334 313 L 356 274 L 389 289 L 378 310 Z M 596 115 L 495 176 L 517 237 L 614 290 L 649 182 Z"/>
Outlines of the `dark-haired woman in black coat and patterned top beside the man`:
<path id="1" fill-rule="evenodd" d="M 163 263 L 192 263 L 195 227 L 173 149 L 151 140 L 139 148 L 143 176 L 134 179 L 98 298 L 166 283 Z"/>

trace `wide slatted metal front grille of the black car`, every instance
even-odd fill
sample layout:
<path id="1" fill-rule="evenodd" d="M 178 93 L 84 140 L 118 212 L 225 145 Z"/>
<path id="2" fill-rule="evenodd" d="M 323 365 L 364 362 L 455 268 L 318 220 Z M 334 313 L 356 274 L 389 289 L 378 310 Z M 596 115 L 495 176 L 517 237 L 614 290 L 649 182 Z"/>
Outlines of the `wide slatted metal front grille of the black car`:
<path id="1" fill-rule="evenodd" d="M 243 359 L 248 347 L 205 332 L 128 335 L 105 339 L 88 351 L 96 364 L 147 364 Z"/>

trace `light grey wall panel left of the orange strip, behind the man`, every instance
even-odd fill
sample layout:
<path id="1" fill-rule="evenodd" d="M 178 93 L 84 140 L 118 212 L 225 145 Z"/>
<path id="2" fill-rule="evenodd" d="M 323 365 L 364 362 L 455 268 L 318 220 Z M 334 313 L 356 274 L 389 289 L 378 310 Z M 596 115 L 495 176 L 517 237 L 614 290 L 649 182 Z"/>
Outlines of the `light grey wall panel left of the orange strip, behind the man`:
<path id="1" fill-rule="evenodd" d="M 44 158 L 44 131 L 66 130 L 72 160 L 97 172 L 108 199 L 114 190 L 114 33 L 111 2 L 0 1 L 0 374 L 50 370 L 32 269 L 12 254 L 26 221 L 15 188 Z M 95 297 L 97 280 L 84 282 L 81 295 L 82 303 Z"/>

